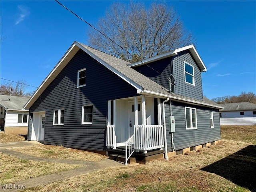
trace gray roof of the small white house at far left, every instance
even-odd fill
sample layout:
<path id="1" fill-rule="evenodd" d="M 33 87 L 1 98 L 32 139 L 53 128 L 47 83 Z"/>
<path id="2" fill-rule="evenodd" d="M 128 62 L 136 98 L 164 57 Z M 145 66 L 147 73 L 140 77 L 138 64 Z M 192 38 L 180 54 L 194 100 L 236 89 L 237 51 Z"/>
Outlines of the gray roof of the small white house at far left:
<path id="1" fill-rule="evenodd" d="M 11 101 L 9 98 L 9 95 L 0 95 L 0 104 L 5 110 L 24 111 L 22 108 L 29 100 L 29 97 L 11 96 Z"/>

